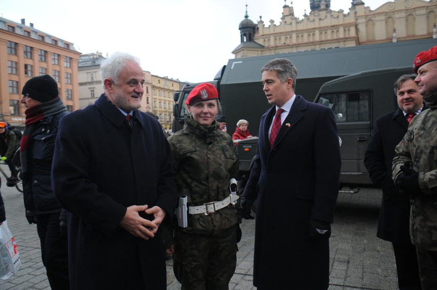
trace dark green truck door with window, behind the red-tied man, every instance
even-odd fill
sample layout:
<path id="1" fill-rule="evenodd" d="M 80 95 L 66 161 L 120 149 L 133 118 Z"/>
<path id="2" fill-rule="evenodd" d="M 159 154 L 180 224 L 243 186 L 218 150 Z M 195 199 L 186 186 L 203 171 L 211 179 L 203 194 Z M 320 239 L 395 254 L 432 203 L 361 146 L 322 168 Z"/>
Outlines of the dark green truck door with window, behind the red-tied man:
<path id="1" fill-rule="evenodd" d="M 317 102 L 332 109 L 342 139 L 340 183 L 371 184 L 363 161 L 371 136 L 370 91 L 321 94 Z"/>

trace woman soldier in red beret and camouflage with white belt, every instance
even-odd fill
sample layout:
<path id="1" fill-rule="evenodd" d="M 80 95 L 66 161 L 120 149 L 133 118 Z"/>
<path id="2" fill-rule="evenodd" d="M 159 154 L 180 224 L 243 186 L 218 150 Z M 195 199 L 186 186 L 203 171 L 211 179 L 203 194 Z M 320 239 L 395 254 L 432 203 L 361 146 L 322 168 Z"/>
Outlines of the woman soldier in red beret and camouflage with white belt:
<path id="1" fill-rule="evenodd" d="M 229 181 L 239 173 L 231 137 L 219 130 L 215 120 L 220 110 L 217 98 L 211 84 L 195 87 L 185 102 L 191 115 L 185 116 L 184 129 L 168 138 L 178 193 L 188 197 L 189 212 L 190 208 L 205 209 L 205 203 L 229 199 Z M 215 212 L 214 208 L 207 213 L 188 213 L 185 228 L 174 219 L 173 270 L 182 289 L 228 289 L 236 267 L 241 222 L 239 200 L 235 202 Z"/>

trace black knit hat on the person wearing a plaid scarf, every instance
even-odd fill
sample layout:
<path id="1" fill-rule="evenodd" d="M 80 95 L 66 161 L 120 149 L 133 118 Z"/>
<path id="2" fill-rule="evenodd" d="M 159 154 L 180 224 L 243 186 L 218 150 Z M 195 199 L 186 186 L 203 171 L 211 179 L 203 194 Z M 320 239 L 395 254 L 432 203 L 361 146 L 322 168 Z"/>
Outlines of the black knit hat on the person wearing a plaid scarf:
<path id="1" fill-rule="evenodd" d="M 29 79 L 23 87 L 22 95 L 47 102 L 59 96 L 56 81 L 48 74 Z"/>

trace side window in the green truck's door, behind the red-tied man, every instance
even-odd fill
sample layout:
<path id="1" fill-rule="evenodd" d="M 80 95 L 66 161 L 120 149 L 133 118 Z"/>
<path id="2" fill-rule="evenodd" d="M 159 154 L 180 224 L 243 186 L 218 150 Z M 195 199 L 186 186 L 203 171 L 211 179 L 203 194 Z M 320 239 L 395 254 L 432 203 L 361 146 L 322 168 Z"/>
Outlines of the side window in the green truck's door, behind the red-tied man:
<path id="1" fill-rule="evenodd" d="M 318 103 L 330 108 L 336 122 L 366 122 L 370 120 L 369 92 L 323 94 Z"/>

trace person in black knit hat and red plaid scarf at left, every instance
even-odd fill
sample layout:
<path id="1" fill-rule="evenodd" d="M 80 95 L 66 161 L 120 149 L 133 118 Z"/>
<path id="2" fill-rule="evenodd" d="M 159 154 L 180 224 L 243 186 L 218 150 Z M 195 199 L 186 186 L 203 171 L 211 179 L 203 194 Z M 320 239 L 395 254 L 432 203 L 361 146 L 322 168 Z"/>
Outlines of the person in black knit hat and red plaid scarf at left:
<path id="1" fill-rule="evenodd" d="M 49 75 L 29 79 L 22 94 L 26 123 L 20 159 L 26 218 L 29 223 L 36 223 L 51 288 L 68 289 L 67 237 L 61 234 L 61 205 L 50 182 L 58 123 L 68 111 L 59 97 L 56 81 Z"/>

